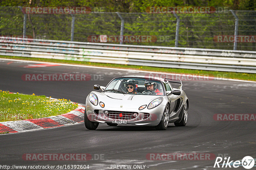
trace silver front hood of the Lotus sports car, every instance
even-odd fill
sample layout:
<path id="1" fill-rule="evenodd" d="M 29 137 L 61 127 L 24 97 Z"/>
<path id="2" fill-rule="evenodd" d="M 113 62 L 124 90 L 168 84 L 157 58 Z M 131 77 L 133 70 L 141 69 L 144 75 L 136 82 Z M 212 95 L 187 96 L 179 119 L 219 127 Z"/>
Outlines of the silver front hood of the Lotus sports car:
<path id="1" fill-rule="evenodd" d="M 93 92 L 94 93 L 94 92 Z M 98 96 L 99 102 L 103 102 L 105 107 L 119 108 L 132 108 L 139 109 L 142 105 L 148 105 L 152 100 L 159 98 L 161 96 L 150 96 L 150 95 L 132 95 L 132 94 L 122 94 L 122 93 L 95 93 Z"/>

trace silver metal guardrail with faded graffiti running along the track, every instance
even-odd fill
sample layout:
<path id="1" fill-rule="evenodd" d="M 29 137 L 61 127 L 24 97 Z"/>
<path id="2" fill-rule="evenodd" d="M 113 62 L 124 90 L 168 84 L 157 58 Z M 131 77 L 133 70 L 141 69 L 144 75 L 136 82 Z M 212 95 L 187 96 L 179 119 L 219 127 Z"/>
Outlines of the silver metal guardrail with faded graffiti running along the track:
<path id="1" fill-rule="evenodd" d="M 133 46 L 11 37 L 0 40 L 0 55 L 256 73 L 256 52 L 252 51 Z"/>

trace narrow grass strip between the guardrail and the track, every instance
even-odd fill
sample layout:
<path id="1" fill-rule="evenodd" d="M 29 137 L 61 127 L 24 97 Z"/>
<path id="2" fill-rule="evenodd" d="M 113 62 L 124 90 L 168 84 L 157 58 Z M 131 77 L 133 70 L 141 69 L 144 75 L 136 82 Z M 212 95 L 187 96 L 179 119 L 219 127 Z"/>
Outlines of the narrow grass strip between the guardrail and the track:
<path id="1" fill-rule="evenodd" d="M 83 61 L 74 61 L 74 60 L 41 59 L 41 58 L 14 57 L 14 56 L 1 56 L 1 55 L 0 55 L 0 58 L 55 62 L 55 63 L 65 63 L 65 64 L 78 64 L 78 65 L 98 66 L 98 67 L 124 68 L 124 69 L 134 69 L 134 70 L 144 70 L 144 71 L 154 71 L 154 72 L 177 73 L 177 74 L 193 74 L 193 75 L 206 75 L 206 76 L 209 75 L 211 77 L 256 81 L 256 74 L 247 74 L 247 73 L 119 65 L 119 64 L 92 63 L 92 62 L 85 62 L 85 61 L 83 62 Z"/>

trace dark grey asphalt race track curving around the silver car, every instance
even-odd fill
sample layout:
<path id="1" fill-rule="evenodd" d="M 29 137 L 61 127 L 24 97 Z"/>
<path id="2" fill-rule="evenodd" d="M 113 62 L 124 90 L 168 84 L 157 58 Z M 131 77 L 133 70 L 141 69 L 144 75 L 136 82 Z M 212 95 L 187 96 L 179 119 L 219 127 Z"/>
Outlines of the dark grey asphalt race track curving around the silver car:
<path id="1" fill-rule="evenodd" d="M 94 84 L 107 85 L 114 77 L 145 75 L 88 67 L 26 67 L 33 63 L 0 60 L 0 89 L 24 94 L 45 95 L 85 103 Z M 34 63 L 38 64 L 38 63 Z M 24 81 L 24 74 L 90 74 L 88 81 Z M 256 83 L 224 80 L 183 81 L 189 98 L 185 127 L 169 124 L 166 131 L 154 127 L 100 124 L 97 130 L 84 123 L 46 130 L 0 135 L 1 165 L 89 165 L 90 169 L 224 169 L 213 168 L 216 157 L 230 160 L 251 156 L 256 160 L 256 121 L 216 121 L 215 114 L 256 114 Z M 91 160 L 24 160 L 23 154 L 87 153 Z M 199 153 L 214 155 L 211 160 L 148 159 L 150 153 Z M 101 158 L 100 158 L 101 156 Z M 164 159 L 164 158 L 163 158 Z M 223 161 L 220 162 L 222 166 Z M 112 165 L 112 166 L 111 166 Z M 113 165 L 119 165 L 115 166 Z M 144 167 L 144 166 L 145 167 Z M 256 164 L 255 164 L 256 165 Z M 140 167 L 141 166 L 141 167 Z M 4 169 L 4 168 L 0 168 Z M 55 168 L 56 169 L 56 168 Z M 83 168 L 82 168 L 83 169 Z M 124 169 L 124 166 L 123 168 Z M 238 168 L 245 169 L 243 166 Z M 252 169 L 256 169 L 254 166 Z"/>

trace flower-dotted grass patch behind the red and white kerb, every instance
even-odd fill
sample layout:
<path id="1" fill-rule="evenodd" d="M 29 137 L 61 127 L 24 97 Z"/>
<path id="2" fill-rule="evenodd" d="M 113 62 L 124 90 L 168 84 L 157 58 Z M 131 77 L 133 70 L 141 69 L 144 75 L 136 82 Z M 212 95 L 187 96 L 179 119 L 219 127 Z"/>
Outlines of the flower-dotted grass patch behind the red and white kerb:
<path id="1" fill-rule="evenodd" d="M 9 93 L 0 90 L 0 122 L 56 116 L 77 108 L 67 99 Z"/>

